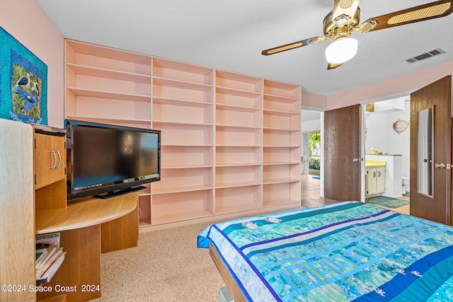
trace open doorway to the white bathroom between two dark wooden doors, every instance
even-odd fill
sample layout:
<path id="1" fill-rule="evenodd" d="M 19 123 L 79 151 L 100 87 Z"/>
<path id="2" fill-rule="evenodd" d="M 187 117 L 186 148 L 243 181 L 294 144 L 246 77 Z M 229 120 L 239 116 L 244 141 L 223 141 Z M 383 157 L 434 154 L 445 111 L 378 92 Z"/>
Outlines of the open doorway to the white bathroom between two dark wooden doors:
<path id="1" fill-rule="evenodd" d="M 362 106 L 365 120 L 365 202 L 410 212 L 411 98 Z M 380 167 L 380 168 L 379 168 Z"/>

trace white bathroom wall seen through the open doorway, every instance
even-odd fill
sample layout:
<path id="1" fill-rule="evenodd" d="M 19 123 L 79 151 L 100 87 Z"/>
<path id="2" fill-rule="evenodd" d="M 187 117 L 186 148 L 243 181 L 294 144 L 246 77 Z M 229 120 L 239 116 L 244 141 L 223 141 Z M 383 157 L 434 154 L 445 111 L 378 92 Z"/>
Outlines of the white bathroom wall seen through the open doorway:
<path id="1" fill-rule="evenodd" d="M 404 110 L 365 115 L 367 127 L 365 153 L 369 153 L 371 148 L 376 148 L 383 153 L 401 154 L 403 156 L 401 176 L 408 178 L 410 174 L 411 125 L 409 124 L 404 132 L 398 134 L 393 126 L 398 118 L 411 122 L 411 102 L 404 103 Z M 366 156 L 365 159 L 367 159 Z"/>

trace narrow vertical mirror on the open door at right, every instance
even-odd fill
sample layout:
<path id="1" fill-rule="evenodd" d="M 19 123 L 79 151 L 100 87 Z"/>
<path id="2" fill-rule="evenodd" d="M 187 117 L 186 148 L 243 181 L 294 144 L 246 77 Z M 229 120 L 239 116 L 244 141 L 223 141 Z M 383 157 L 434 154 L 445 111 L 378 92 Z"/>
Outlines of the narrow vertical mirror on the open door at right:
<path id="1" fill-rule="evenodd" d="M 434 165 L 432 164 L 433 116 L 434 107 L 418 112 L 417 192 L 430 197 L 432 197 L 432 184 L 434 183 Z"/>

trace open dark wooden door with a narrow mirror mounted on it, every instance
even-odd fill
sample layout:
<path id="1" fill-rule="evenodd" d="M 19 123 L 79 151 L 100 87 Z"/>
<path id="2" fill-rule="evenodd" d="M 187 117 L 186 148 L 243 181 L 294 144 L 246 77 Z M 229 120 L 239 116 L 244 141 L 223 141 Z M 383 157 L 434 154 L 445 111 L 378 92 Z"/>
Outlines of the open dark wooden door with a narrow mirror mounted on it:
<path id="1" fill-rule="evenodd" d="M 450 224 L 451 218 L 451 100 L 452 76 L 446 76 L 439 81 L 411 93 L 411 215 L 440 223 Z M 432 191 L 430 194 L 421 193 L 418 187 L 418 112 L 427 108 L 432 109 L 432 151 L 431 158 L 425 163 L 431 163 Z M 432 162 L 430 162 L 432 161 Z M 442 168 L 442 164 L 445 168 Z"/>

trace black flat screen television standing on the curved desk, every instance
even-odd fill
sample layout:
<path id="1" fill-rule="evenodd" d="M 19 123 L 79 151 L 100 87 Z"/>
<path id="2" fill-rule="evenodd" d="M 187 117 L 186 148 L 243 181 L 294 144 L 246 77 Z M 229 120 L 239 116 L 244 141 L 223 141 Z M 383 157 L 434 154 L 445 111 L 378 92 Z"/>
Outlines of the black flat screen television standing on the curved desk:
<path id="1" fill-rule="evenodd" d="M 67 200 L 109 198 L 161 180 L 161 132 L 65 120 Z"/>

